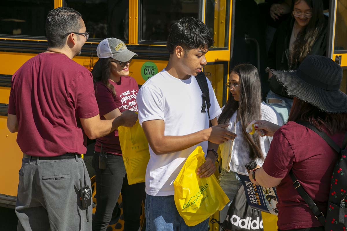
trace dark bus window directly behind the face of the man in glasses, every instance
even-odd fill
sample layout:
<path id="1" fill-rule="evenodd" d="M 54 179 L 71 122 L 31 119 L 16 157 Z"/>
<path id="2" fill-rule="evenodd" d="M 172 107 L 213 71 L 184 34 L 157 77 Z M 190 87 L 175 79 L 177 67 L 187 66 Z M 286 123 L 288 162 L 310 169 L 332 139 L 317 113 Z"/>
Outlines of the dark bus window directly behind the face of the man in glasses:
<path id="1" fill-rule="evenodd" d="M 82 14 L 89 38 L 115 37 L 128 43 L 129 0 L 66 0 Z"/>

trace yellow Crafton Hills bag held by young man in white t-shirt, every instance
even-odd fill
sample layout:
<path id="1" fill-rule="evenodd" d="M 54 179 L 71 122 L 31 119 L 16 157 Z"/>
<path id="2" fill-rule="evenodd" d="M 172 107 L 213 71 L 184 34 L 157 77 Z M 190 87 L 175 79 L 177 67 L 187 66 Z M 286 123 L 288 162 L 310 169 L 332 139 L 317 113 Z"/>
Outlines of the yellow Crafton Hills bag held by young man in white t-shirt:
<path id="1" fill-rule="evenodd" d="M 229 202 L 214 175 L 206 178 L 196 175 L 204 162 L 204 152 L 197 146 L 174 181 L 175 204 L 188 226 L 203 222 Z"/>

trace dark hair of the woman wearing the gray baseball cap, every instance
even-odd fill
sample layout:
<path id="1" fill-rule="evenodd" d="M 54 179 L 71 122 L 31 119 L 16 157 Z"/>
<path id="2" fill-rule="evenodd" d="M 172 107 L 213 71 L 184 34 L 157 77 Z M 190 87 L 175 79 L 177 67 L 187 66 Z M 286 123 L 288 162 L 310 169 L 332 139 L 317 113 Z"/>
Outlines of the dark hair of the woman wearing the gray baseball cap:
<path id="1" fill-rule="evenodd" d="M 111 90 L 113 96 L 116 96 L 115 87 L 113 87 L 113 85 L 109 82 L 111 60 L 112 58 L 99 59 L 93 67 L 92 75 L 94 82 L 102 82 L 108 89 Z"/>

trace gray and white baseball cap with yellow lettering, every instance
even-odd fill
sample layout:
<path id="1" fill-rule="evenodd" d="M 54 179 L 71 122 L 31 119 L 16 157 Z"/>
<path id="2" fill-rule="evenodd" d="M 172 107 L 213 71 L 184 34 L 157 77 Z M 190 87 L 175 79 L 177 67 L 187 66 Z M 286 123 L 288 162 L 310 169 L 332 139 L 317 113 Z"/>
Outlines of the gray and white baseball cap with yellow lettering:
<path id="1" fill-rule="evenodd" d="M 100 59 L 112 58 L 120 62 L 126 62 L 137 56 L 129 51 L 127 46 L 118 38 L 105 38 L 96 48 L 96 53 Z"/>

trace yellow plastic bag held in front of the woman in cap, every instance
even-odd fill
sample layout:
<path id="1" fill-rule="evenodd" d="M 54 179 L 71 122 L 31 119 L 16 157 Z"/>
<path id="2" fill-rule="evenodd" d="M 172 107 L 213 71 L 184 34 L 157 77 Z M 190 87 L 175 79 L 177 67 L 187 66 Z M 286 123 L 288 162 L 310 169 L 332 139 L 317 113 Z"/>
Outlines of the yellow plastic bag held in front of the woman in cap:
<path id="1" fill-rule="evenodd" d="M 120 126 L 118 135 L 129 185 L 145 182 L 150 152 L 141 125 L 136 121 L 132 127 Z"/>

